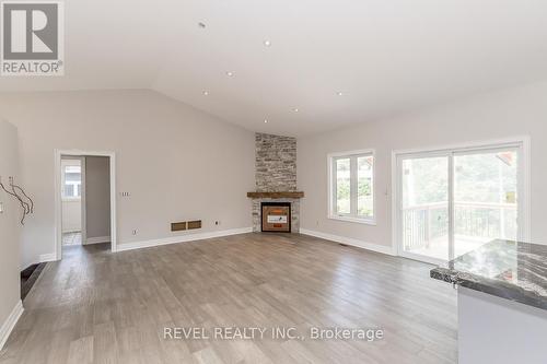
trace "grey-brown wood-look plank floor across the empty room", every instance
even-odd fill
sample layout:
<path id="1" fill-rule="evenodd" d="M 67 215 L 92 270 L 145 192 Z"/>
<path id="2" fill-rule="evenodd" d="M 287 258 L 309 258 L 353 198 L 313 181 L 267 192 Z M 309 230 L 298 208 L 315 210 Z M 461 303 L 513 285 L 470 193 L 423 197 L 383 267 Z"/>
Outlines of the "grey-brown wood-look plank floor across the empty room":
<path id="1" fill-rule="evenodd" d="M 67 247 L 0 363 L 455 363 L 455 291 L 430 268 L 303 235 Z M 381 328 L 384 339 L 166 340 L 165 327 Z"/>

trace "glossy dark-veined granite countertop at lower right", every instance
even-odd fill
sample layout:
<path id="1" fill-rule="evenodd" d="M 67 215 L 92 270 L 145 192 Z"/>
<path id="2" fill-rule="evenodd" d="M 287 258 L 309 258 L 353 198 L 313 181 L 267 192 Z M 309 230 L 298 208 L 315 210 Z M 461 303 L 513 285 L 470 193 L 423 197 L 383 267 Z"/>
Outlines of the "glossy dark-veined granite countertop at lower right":
<path id="1" fill-rule="evenodd" d="M 430 275 L 547 309 L 547 245 L 493 240 L 431 270 Z"/>

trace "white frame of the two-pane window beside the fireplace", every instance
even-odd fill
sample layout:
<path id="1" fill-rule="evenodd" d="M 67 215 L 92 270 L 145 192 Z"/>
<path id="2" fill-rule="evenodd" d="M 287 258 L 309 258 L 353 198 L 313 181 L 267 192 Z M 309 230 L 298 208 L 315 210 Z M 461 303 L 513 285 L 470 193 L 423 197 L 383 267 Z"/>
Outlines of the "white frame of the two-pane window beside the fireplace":
<path id="1" fill-rule="evenodd" d="M 372 218 L 359 216 L 357 214 L 357 158 L 360 156 L 372 156 Z M 350 206 L 349 214 L 339 214 L 336 209 L 336 171 L 334 167 L 335 161 L 339 158 L 350 158 Z M 374 149 L 365 149 L 349 152 L 329 153 L 327 155 L 328 165 L 328 215 L 327 219 L 353 222 L 366 225 L 376 225 L 376 151 Z"/>

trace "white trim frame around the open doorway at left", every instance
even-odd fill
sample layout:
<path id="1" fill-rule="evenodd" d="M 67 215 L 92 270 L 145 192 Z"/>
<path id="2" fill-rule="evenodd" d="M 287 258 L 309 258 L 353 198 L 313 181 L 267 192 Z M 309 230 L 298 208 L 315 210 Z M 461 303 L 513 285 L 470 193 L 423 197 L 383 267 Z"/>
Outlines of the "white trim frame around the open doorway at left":
<path id="1" fill-rule="evenodd" d="M 62 215 L 61 215 L 61 158 L 69 156 L 106 156 L 109 158 L 110 177 L 110 250 L 117 251 L 117 213 L 116 213 L 116 153 L 103 151 L 83 151 L 83 150 L 58 150 L 54 151 L 54 175 L 55 175 L 55 260 L 62 259 Z M 84 174 L 82 174 L 83 178 Z M 82 190 L 82 193 L 84 191 Z M 82 203 L 83 204 L 83 203 Z M 82 219 L 84 215 L 82 216 Z M 83 228 L 84 225 L 82 225 Z M 82 237 L 83 239 L 83 237 Z M 83 242 L 82 242 L 83 244 Z"/>

